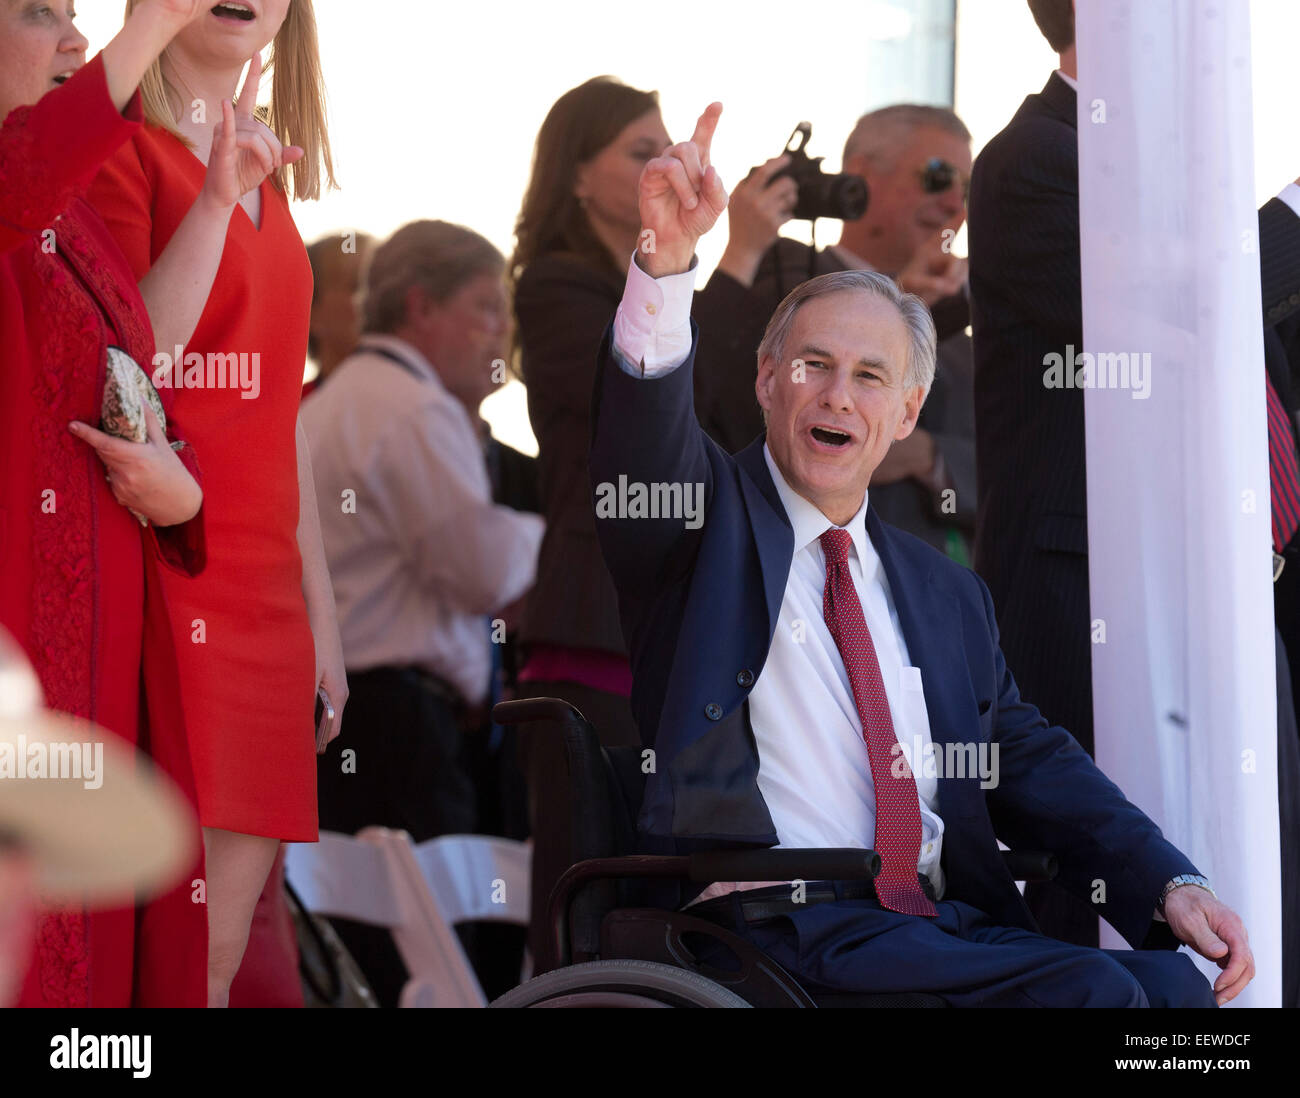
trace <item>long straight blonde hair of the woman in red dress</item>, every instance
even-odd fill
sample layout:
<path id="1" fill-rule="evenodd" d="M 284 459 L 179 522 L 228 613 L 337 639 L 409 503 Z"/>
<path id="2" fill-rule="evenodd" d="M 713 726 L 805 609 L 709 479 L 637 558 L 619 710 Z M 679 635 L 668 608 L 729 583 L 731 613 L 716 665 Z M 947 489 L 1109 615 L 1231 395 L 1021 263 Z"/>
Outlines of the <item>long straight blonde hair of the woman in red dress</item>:
<path id="1" fill-rule="evenodd" d="M 134 6 L 135 0 L 126 0 L 127 16 Z M 270 108 L 259 108 L 257 117 L 281 143 L 295 144 L 306 153 L 296 164 L 276 173 L 276 186 L 289 191 L 287 174 L 292 173 L 291 196 L 318 199 L 322 185 L 337 188 L 338 182 L 326 129 L 325 77 L 312 0 L 290 0 L 285 22 L 270 44 L 265 74 L 270 77 Z M 192 148 L 194 143 L 177 127 L 173 101 L 179 99 L 177 88 L 162 75 L 162 58 L 159 57 L 140 81 L 144 118 Z"/>

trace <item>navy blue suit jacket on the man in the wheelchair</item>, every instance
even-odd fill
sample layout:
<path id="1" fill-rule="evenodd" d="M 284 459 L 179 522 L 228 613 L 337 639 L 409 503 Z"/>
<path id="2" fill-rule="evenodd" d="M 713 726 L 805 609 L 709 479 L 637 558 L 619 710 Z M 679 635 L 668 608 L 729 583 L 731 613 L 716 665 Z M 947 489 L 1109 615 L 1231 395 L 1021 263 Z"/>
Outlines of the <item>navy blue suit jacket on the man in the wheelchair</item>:
<path id="1" fill-rule="evenodd" d="M 763 673 L 794 535 L 763 440 L 732 457 L 696 420 L 694 322 L 690 357 L 655 379 L 619 366 L 611 333 L 612 325 L 593 394 L 593 490 L 618 485 L 620 476 L 629 483 L 699 483 L 706 502 L 694 530 L 680 517 L 597 520 L 632 658 L 632 708 L 654 750 L 637 823 L 641 846 L 660 854 L 774 846 L 746 702 Z M 870 508 L 867 533 L 922 672 L 936 747 L 998 750 L 996 787 L 980 789 L 976 774 L 939 782 L 944 898 L 1001 925 L 1036 929 L 996 836 L 1013 849 L 1053 851 L 1060 881 L 1080 897 L 1104 882 L 1100 912 L 1140 946 L 1161 889 L 1195 867 L 1065 729 L 1020 698 L 983 581 Z"/>

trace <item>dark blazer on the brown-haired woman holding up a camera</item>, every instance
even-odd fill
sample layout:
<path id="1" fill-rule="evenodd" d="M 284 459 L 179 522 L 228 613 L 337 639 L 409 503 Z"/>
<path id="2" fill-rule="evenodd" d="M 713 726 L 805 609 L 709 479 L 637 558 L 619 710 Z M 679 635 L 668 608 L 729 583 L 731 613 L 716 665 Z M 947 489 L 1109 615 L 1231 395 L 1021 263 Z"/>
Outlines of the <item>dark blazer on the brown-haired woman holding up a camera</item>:
<path id="1" fill-rule="evenodd" d="M 530 262 L 515 287 L 528 417 L 538 446 L 537 487 L 546 517 L 537 582 L 520 624 L 525 646 L 627 651 L 614 582 L 595 541 L 586 473 L 595 355 L 623 299 L 623 275 L 581 256 L 552 253 Z M 733 333 L 734 317 L 754 312 L 749 291 L 715 272 L 696 292 L 692 312 L 712 334 L 706 359 L 729 372 L 727 356 L 745 353 Z M 753 347 L 748 355 L 753 364 Z"/>

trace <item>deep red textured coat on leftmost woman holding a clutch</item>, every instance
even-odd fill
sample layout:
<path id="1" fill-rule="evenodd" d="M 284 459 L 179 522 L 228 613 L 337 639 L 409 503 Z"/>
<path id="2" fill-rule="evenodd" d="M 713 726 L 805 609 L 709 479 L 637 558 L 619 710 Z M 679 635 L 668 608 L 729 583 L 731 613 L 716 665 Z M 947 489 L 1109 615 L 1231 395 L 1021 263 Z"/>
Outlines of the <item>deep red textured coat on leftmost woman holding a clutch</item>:
<path id="1" fill-rule="evenodd" d="M 203 569 L 202 512 L 161 535 L 143 531 L 68 430 L 74 418 L 99 424 L 109 344 L 146 372 L 153 357 L 135 278 L 81 199 L 140 118 L 138 96 L 126 117 L 113 107 L 96 57 L 0 127 L 0 625 L 26 650 L 51 708 L 138 743 L 194 803 L 159 570 Z M 196 825 L 192 839 L 192 872 L 148 904 L 124 897 L 110 911 L 43 912 L 21 1004 L 203 1006 Z"/>

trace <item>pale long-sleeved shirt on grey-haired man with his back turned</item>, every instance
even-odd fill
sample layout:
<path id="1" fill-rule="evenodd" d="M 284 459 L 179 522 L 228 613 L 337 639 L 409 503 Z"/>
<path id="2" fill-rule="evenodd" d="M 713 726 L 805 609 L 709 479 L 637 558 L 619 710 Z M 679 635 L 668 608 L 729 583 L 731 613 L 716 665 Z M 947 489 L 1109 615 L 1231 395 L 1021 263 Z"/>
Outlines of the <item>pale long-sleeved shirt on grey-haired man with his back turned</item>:
<path id="1" fill-rule="evenodd" d="M 469 413 L 395 337 L 367 335 L 302 420 L 348 670 L 422 667 L 481 704 L 486 615 L 532 586 L 542 520 L 493 503 Z"/>

